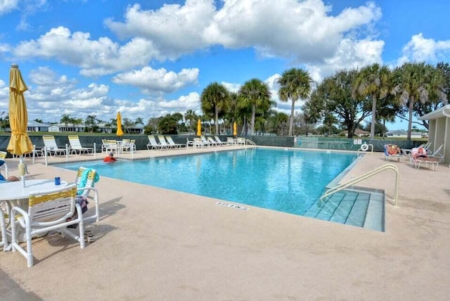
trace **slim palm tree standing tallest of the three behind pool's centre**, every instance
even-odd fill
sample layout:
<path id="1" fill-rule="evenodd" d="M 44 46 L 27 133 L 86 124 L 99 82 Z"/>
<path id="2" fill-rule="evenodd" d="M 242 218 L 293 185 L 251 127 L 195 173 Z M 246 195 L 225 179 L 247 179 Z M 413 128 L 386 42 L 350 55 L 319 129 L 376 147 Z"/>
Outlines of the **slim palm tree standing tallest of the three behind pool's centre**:
<path id="1" fill-rule="evenodd" d="M 289 136 L 293 136 L 295 102 L 300 98 L 307 98 L 311 92 L 312 79 L 307 71 L 298 68 L 291 68 L 283 72 L 276 82 L 280 85 L 278 98 L 285 103 L 290 99 Z"/>

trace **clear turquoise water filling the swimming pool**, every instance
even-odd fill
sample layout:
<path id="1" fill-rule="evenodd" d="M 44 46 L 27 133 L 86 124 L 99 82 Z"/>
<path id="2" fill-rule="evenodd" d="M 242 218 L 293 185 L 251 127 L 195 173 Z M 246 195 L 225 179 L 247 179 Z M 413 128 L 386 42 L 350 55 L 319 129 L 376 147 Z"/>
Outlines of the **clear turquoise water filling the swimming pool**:
<path id="1" fill-rule="evenodd" d="M 348 153 L 255 148 L 148 160 L 80 165 L 111 177 L 303 215 L 354 160 Z"/>

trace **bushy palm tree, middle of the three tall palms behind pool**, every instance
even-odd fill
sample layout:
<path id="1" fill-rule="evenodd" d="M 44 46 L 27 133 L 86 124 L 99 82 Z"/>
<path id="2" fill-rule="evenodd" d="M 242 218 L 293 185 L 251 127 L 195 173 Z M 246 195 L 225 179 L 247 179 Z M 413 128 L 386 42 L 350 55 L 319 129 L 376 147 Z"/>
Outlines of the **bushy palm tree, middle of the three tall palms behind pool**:
<path id="1" fill-rule="evenodd" d="M 255 134 L 255 118 L 257 109 L 266 108 L 270 105 L 270 89 L 269 85 L 265 82 L 262 82 L 261 79 L 250 79 L 243 84 L 239 89 L 239 107 L 240 108 L 251 108 L 252 111 L 252 123 L 250 124 L 250 134 Z"/>

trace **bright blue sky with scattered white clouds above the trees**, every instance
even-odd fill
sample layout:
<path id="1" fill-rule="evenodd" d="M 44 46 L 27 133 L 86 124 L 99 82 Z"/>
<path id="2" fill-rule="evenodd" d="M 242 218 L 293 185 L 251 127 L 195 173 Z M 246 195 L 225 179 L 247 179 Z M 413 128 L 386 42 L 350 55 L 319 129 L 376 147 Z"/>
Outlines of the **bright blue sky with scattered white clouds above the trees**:
<path id="1" fill-rule="evenodd" d="M 254 77 L 289 114 L 275 84 L 288 68 L 320 82 L 371 63 L 448 62 L 449 11 L 439 0 L 0 1 L 0 113 L 18 63 L 30 120 L 200 114 L 208 84 L 237 91 Z"/>

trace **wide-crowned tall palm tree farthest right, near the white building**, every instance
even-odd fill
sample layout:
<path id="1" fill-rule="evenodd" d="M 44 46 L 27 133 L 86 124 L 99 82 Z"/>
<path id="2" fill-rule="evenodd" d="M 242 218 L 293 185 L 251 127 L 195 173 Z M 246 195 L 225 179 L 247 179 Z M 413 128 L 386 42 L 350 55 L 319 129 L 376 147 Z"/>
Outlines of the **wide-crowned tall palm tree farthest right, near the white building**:
<path id="1" fill-rule="evenodd" d="M 408 106 L 408 136 L 411 140 L 414 103 L 427 103 L 430 94 L 446 99 L 444 76 L 441 71 L 425 63 L 404 63 L 394 70 L 392 93 Z"/>

